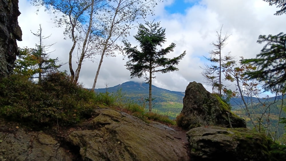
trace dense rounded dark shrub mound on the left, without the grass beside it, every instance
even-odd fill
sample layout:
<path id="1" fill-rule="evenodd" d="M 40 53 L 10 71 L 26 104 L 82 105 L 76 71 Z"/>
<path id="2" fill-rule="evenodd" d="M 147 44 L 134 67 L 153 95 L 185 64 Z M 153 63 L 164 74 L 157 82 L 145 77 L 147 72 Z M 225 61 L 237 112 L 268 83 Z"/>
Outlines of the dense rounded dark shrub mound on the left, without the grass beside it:
<path id="1" fill-rule="evenodd" d="M 71 83 L 66 73 L 51 73 L 41 84 L 23 75 L 2 78 L 0 116 L 41 128 L 68 125 L 90 117 L 96 96 L 80 84 Z"/>

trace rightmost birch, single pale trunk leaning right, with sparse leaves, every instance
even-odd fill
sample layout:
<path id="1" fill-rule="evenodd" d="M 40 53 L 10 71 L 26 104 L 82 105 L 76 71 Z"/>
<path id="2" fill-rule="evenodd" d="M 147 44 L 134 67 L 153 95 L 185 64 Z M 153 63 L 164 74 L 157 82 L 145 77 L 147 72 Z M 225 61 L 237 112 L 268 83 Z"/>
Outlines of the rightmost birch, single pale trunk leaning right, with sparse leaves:
<path id="1" fill-rule="evenodd" d="M 134 21 L 153 14 L 155 5 L 157 5 L 156 0 L 112 0 L 108 8 L 103 9 L 103 14 L 98 17 L 102 36 L 98 37 L 96 44 L 101 57 L 92 90 L 95 89 L 104 55 L 115 56 L 114 51 L 123 53 L 123 48 L 118 42 L 124 41 L 129 35 L 130 29 L 134 27 Z"/>

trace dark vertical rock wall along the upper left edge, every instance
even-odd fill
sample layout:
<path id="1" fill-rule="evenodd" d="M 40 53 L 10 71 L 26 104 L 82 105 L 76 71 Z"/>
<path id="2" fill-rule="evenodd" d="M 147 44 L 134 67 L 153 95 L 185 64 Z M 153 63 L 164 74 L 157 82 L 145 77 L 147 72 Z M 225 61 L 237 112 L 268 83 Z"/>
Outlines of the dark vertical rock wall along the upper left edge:
<path id="1" fill-rule="evenodd" d="M 16 39 L 22 41 L 19 15 L 18 0 L 0 1 L 0 77 L 11 73 L 18 55 Z"/>

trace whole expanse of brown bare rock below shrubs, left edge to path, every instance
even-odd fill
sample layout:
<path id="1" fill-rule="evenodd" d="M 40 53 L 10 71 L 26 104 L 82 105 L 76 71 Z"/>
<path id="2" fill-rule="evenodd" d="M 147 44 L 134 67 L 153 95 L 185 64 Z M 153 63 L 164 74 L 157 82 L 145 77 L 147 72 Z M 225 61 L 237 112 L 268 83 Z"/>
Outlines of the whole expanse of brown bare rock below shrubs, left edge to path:
<path id="1" fill-rule="evenodd" d="M 25 131 L 0 121 L 0 160 L 190 160 L 175 130 L 112 109 L 97 109 L 64 137 Z"/>

